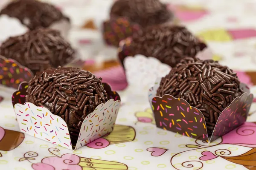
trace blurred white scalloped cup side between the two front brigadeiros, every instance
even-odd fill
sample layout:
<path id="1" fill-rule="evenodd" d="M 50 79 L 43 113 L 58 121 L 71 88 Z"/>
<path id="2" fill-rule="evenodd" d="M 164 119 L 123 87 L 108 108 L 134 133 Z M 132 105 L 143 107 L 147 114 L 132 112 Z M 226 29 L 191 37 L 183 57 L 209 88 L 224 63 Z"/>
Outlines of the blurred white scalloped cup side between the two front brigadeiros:
<path id="1" fill-rule="evenodd" d="M 145 57 L 140 54 L 126 57 L 124 67 L 128 88 L 131 88 L 132 93 L 142 94 L 145 97 L 157 77 L 164 77 L 171 71 L 169 65 L 161 63 L 156 58 Z"/>

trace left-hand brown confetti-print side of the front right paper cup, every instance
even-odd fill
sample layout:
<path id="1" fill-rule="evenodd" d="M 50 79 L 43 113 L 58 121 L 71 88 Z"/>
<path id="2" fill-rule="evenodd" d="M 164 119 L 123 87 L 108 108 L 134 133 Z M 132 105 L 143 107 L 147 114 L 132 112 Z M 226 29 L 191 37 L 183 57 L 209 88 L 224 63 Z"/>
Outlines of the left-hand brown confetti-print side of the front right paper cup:
<path id="1" fill-rule="evenodd" d="M 184 99 L 171 95 L 154 97 L 152 110 L 157 127 L 209 142 L 203 114 L 191 107 Z"/>

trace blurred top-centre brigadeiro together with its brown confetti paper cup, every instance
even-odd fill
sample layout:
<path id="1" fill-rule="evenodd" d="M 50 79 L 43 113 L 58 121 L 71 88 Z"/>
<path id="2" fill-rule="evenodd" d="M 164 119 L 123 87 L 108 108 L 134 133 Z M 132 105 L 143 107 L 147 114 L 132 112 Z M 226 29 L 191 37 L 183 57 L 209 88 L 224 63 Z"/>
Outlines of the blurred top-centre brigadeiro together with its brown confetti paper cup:
<path id="1" fill-rule="evenodd" d="M 166 4 L 159 0 L 116 0 L 110 10 L 110 20 L 103 23 L 103 38 L 108 45 L 119 42 L 141 28 L 170 23 L 174 19 Z"/>

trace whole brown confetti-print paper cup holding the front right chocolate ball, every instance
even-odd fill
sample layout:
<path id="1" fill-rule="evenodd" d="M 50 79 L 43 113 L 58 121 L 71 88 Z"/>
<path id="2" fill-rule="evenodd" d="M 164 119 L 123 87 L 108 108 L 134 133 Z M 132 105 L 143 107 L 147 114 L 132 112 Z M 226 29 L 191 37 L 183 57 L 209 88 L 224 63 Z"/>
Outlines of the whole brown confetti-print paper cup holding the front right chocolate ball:
<path id="1" fill-rule="evenodd" d="M 154 113 L 156 126 L 184 136 L 212 142 L 242 125 L 248 116 L 253 94 L 246 85 L 240 84 L 244 94 L 234 99 L 218 117 L 212 136 L 207 134 L 207 126 L 203 113 L 192 107 L 184 99 L 165 94 L 156 96 L 161 79 L 157 79 L 154 87 L 148 92 L 148 100 Z"/>

